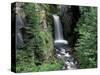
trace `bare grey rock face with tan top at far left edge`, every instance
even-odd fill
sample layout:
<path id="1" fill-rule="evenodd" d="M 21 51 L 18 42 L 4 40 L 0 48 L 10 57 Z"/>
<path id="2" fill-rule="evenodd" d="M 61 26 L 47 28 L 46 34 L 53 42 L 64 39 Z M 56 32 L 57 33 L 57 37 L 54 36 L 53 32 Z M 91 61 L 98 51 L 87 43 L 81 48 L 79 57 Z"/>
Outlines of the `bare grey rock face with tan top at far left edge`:
<path id="1" fill-rule="evenodd" d="M 16 24 L 16 47 L 20 48 L 24 44 L 24 38 L 23 38 L 23 32 L 22 29 L 25 27 L 25 14 L 23 11 L 23 6 L 24 3 L 16 3 L 15 6 L 13 7 L 13 11 L 15 14 L 15 24 Z"/>

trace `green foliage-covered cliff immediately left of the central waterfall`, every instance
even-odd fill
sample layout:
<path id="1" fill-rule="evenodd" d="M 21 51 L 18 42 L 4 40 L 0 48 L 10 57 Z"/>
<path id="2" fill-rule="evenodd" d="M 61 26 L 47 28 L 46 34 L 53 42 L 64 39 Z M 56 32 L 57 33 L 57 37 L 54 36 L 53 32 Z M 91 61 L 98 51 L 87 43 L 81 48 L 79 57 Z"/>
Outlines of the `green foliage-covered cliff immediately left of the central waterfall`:
<path id="1" fill-rule="evenodd" d="M 23 6 L 26 15 L 26 39 L 23 47 L 16 51 L 17 72 L 51 71 L 61 68 L 63 62 L 53 55 L 52 20 L 49 8 L 49 5 L 44 4 L 25 3 Z M 47 22 L 47 28 L 43 28 L 44 23 L 41 21 L 44 20 Z"/>

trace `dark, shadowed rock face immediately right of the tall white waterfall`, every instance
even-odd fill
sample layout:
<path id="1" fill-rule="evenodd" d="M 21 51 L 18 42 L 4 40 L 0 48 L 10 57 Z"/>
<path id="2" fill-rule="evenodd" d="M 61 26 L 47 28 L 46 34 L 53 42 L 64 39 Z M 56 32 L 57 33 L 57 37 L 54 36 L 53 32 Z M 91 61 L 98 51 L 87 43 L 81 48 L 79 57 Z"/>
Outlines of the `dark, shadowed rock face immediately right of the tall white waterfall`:
<path id="1" fill-rule="evenodd" d="M 80 11 L 78 6 L 66 6 L 60 7 L 61 21 L 63 25 L 64 37 L 68 40 L 69 45 L 73 46 L 76 40 L 76 33 L 74 28 L 80 17 Z"/>

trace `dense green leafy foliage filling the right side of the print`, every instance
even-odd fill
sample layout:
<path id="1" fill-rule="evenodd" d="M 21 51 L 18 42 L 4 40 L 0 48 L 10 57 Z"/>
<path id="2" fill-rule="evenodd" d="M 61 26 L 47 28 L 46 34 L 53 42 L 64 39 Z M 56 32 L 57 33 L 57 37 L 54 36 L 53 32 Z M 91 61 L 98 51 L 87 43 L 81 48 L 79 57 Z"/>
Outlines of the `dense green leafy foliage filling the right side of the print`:
<path id="1" fill-rule="evenodd" d="M 97 67 L 97 8 L 80 7 L 81 18 L 76 31 L 80 37 L 75 47 L 75 54 L 80 68 Z"/>

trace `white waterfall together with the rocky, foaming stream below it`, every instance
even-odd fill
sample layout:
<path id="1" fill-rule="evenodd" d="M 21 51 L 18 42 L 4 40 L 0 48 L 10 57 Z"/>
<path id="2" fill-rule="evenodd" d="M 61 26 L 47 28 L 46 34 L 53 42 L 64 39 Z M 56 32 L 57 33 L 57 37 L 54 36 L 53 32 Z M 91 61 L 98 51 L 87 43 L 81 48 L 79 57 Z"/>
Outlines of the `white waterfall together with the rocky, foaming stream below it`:
<path id="1" fill-rule="evenodd" d="M 56 55 L 59 59 L 64 59 L 64 66 L 62 69 L 77 69 L 77 61 L 70 54 L 71 48 L 68 47 L 68 41 L 64 40 L 63 30 L 59 16 L 53 15 L 54 32 L 55 32 L 55 49 Z"/>

